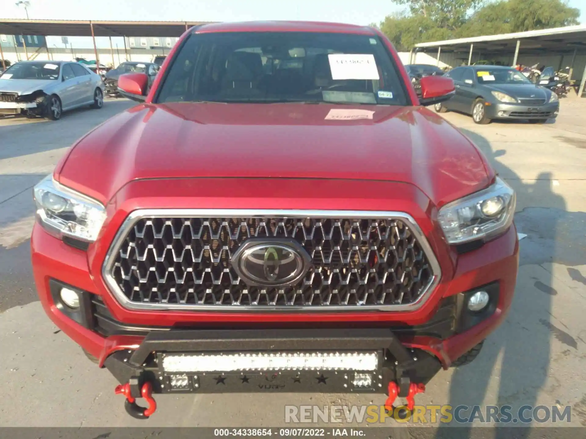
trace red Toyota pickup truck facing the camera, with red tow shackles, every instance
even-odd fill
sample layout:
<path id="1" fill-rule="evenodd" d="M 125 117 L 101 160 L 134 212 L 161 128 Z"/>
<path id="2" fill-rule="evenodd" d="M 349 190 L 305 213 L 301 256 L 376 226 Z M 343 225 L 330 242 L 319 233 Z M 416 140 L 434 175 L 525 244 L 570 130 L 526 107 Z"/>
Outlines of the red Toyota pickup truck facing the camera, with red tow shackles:
<path id="1" fill-rule="evenodd" d="M 34 189 L 32 262 L 128 413 L 182 392 L 395 410 L 478 354 L 515 289 L 515 193 L 425 108 L 452 80 L 420 85 L 378 30 L 314 22 L 196 26 L 148 94 L 120 77 L 140 103 Z"/>

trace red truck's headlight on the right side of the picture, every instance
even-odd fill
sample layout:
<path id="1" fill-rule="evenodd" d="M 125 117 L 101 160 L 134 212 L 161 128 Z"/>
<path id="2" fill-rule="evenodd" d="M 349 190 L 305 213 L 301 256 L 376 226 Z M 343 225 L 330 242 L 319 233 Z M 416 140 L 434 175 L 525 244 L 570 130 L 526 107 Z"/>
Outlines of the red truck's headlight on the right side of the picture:
<path id="1" fill-rule="evenodd" d="M 446 204 L 438 221 L 448 243 L 461 244 L 505 231 L 515 214 L 515 191 L 497 177 L 495 184 Z"/>

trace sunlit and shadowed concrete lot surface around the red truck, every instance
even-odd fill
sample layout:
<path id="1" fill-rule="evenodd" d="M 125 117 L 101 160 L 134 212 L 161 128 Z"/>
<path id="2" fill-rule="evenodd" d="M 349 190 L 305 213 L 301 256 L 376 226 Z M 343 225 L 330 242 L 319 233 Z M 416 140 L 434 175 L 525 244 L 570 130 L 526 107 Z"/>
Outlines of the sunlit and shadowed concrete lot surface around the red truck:
<path id="1" fill-rule="evenodd" d="M 285 404 L 383 404 L 383 396 L 369 395 L 182 395 L 160 396 L 146 421 L 125 413 L 110 373 L 88 361 L 43 312 L 30 274 L 29 236 L 32 187 L 74 140 L 131 106 L 107 100 L 103 109 L 66 113 L 58 122 L 0 118 L 0 427 L 275 427 L 287 425 Z M 443 115 L 515 187 L 515 221 L 526 236 L 506 322 L 473 363 L 438 373 L 418 404 L 571 406 L 570 425 L 586 426 L 585 111 L 586 100 L 568 98 L 557 121 L 546 125 L 479 126 L 469 116 Z M 440 437 L 432 429 L 409 431 Z M 575 430 L 575 437 L 585 431 Z M 471 433 L 459 428 L 458 434 Z M 550 437 L 556 435 L 552 430 Z"/>

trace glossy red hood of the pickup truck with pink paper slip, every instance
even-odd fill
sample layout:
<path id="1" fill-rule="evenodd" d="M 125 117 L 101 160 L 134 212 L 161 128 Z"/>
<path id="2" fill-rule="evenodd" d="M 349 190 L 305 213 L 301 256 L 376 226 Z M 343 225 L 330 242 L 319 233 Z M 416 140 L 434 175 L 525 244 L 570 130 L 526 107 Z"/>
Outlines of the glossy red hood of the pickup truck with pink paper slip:
<path id="1" fill-rule="evenodd" d="M 401 181 L 442 205 L 494 174 L 468 138 L 421 107 L 185 102 L 114 116 L 54 177 L 102 203 L 138 179 L 268 177 Z"/>

